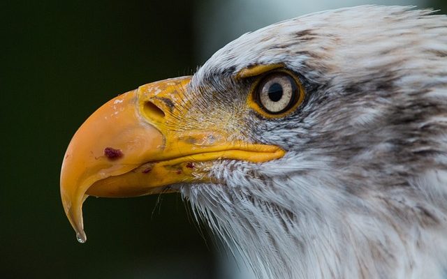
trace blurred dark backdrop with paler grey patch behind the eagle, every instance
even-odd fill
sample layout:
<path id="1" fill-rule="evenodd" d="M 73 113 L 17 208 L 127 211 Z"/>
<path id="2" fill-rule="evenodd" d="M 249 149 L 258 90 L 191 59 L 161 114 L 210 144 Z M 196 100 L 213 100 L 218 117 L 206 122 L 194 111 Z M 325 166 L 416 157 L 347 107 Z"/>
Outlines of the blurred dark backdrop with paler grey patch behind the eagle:
<path id="1" fill-rule="evenodd" d="M 60 165 L 106 100 L 189 75 L 229 40 L 292 17 L 272 3 L 288 13 L 292 5 L 294 16 L 337 8 L 279 2 L 2 1 L 0 278 L 225 278 L 212 237 L 176 194 L 87 199 L 89 241 L 78 243 L 60 202 Z M 445 0 L 413 2 L 446 13 Z"/>

